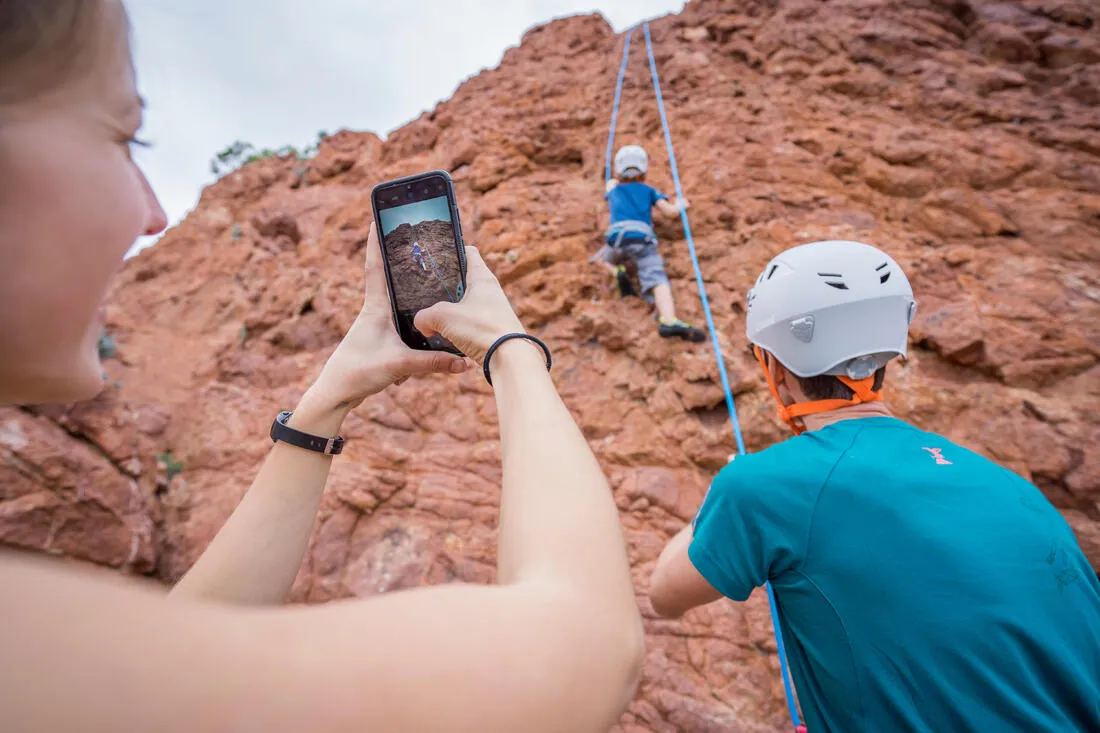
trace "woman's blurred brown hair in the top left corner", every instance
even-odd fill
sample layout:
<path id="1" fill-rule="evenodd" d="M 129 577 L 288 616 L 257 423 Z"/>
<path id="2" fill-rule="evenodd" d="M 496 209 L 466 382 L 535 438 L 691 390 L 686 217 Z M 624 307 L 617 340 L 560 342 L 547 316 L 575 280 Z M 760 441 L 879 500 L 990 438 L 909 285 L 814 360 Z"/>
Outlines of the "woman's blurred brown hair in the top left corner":
<path id="1" fill-rule="evenodd" d="M 129 34 L 121 0 L 0 0 L 0 107 L 54 91 Z"/>

